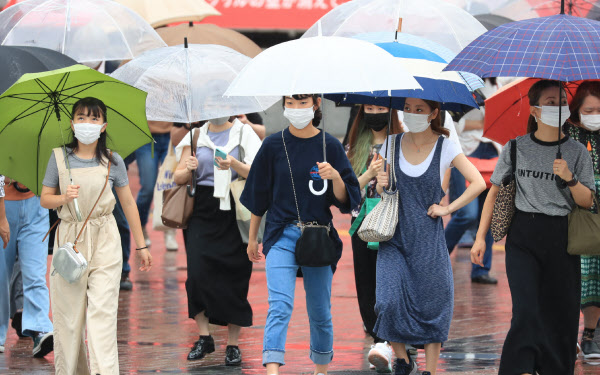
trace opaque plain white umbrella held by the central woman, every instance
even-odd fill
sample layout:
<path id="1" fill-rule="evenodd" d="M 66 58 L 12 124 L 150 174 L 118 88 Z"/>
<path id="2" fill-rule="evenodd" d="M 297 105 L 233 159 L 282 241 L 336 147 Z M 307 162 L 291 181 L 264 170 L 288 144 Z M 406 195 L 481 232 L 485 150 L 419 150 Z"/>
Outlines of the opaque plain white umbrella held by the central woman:
<path id="1" fill-rule="evenodd" d="M 358 39 L 292 40 L 256 56 L 226 96 L 284 96 L 355 91 L 420 89 L 398 59 Z"/>

